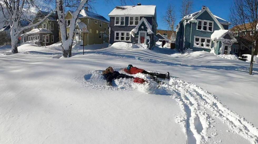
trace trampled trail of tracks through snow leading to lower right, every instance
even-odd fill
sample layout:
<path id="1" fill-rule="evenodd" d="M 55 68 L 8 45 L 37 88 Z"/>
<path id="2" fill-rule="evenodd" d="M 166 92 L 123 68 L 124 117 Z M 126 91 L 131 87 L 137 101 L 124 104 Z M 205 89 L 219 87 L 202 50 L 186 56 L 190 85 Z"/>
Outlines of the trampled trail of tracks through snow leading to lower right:
<path id="1" fill-rule="evenodd" d="M 232 132 L 251 143 L 258 143 L 258 128 L 223 105 L 215 95 L 195 84 L 175 78 L 171 78 L 169 84 L 163 86 L 172 92 L 171 97 L 178 101 L 185 113 L 184 120 L 179 123 L 185 127 L 187 143 L 207 143 L 206 130 L 211 127 L 214 117 L 225 123 Z M 212 115 L 208 115 L 207 110 Z"/>

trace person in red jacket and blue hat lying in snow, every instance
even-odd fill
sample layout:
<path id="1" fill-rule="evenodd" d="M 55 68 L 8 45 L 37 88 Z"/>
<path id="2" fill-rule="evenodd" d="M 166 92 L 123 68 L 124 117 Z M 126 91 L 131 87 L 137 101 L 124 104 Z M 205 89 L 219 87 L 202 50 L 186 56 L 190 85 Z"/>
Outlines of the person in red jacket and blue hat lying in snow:
<path id="1" fill-rule="evenodd" d="M 166 74 L 160 74 L 160 73 L 152 73 L 152 72 L 148 72 L 148 71 L 146 71 L 144 69 L 136 68 L 136 67 L 134 67 L 131 64 L 128 65 L 127 68 L 123 68 L 122 70 L 125 71 L 128 74 L 137 74 L 137 73 L 148 74 L 148 75 L 150 75 L 150 78 L 154 79 L 157 83 L 161 82 L 157 78 L 162 78 L 162 79 L 166 79 L 167 78 L 167 79 L 170 79 L 169 72 L 167 72 L 167 75 Z M 155 78 L 155 77 L 157 77 L 157 78 Z"/>

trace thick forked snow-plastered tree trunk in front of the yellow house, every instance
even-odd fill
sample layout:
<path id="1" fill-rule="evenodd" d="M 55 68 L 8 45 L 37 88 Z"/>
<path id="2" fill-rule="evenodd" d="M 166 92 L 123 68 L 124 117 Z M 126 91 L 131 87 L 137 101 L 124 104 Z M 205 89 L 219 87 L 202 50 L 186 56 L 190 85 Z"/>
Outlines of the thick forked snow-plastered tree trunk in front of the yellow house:
<path id="1" fill-rule="evenodd" d="M 61 39 L 62 39 L 62 50 L 63 50 L 63 56 L 65 58 L 72 56 L 72 46 L 73 46 L 73 38 L 75 36 L 75 30 L 76 30 L 75 29 L 76 20 L 82 8 L 87 3 L 88 3 L 88 0 L 82 0 L 79 3 L 78 7 L 76 8 L 75 12 L 73 12 L 72 19 L 70 21 L 70 29 L 68 32 L 69 34 L 67 35 L 64 0 L 56 0 L 58 23 L 59 23 Z"/>

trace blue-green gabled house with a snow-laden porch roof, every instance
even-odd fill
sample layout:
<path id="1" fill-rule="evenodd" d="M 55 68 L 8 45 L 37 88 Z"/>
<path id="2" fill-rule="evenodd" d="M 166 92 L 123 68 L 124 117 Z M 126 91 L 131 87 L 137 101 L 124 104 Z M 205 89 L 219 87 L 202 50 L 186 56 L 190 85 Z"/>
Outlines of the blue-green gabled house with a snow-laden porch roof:
<path id="1" fill-rule="evenodd" d="M 176 26 L 176 49 L 181 52 L 188 48 L 207 52 L 214 49 L 215 54 L 230 54 L 236 39 L 228 31 L 229 25 L 212 14 L 208 7 L 202 6 L 200 11 L 183 17 Z"/>

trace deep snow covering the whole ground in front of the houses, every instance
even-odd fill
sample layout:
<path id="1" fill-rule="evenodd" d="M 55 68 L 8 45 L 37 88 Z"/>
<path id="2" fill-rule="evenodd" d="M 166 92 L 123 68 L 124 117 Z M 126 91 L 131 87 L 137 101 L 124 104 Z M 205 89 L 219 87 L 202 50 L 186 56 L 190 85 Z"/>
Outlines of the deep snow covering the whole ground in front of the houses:
<path id="1" fill-rule="evenodd" d="M 1 47 L 0 143 L 257 143 L 258 64 L 249 75 L 207 52 L 102 48 L 58 59 L 60 44 Z M 102 70 L 128 64 L 173 78 L 105 85 Z"/>

